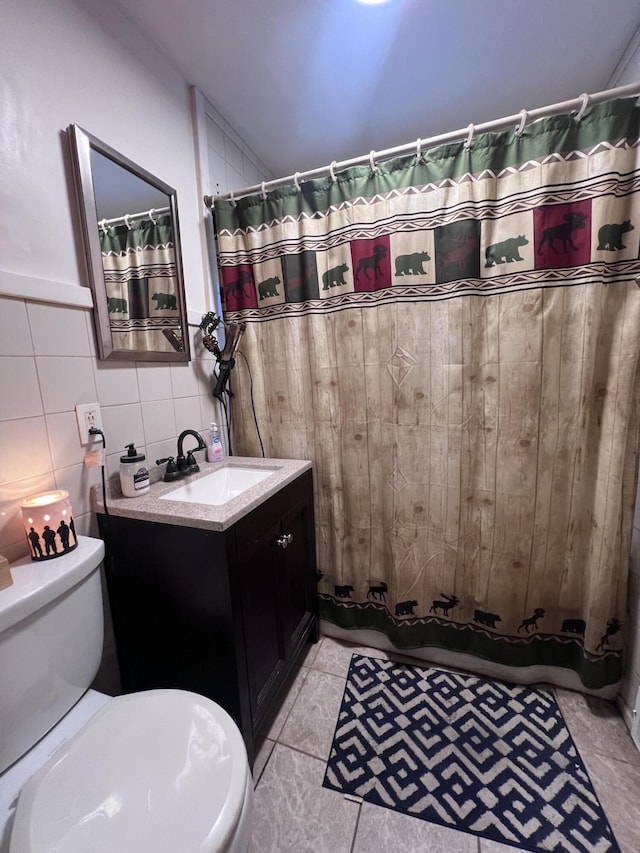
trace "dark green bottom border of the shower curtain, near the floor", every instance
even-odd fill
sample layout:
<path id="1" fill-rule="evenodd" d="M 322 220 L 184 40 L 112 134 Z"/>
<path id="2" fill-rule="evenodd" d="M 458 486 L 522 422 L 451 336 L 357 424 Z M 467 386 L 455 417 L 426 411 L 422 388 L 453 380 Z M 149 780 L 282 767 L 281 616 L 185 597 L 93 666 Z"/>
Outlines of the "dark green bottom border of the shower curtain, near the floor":
<path id="1" fill-rule="evenodd" d="M 319 595 L 320 618 L 340 628 L 366 628 L 385 634 L 397 649 L 435 646 L 463 652 L 520 669 L 527 666 L 562 667 L 577 672 L 585 687 L 598 690 L 622 678 L 622 655 L 609 652 L 587 657 L 578 639 L 532 635 L 518 640 L 490 636 L 473 625 L 416 619 L 398 623 L 386 608 L 369 604 L 338 604 Z"/>

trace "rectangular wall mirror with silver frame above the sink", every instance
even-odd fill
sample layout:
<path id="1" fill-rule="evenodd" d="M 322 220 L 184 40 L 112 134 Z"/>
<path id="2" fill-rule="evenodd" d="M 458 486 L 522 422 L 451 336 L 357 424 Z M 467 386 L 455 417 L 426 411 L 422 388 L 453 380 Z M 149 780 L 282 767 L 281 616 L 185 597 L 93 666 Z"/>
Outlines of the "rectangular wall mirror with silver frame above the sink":
<path id="1" fill-rule="evenodd" d="M 176 191 L 68 128 L 101 359 L 189 361 Z"/>

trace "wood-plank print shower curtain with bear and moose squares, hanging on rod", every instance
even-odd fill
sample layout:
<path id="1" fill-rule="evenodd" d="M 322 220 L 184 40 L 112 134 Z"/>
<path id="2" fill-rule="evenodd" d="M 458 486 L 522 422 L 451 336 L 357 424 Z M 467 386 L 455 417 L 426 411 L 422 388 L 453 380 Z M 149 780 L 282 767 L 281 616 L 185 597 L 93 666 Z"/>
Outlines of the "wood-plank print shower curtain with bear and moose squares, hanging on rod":
<path id="1" fill-rule="evenodd" d="M 324 619 L 619 681 L 638 129 L 635 101 L 611 101 L 215 202 L 251 369 L 234 449 L 260 454 L 253 395 L 266 455 L 313 462 Z"/>

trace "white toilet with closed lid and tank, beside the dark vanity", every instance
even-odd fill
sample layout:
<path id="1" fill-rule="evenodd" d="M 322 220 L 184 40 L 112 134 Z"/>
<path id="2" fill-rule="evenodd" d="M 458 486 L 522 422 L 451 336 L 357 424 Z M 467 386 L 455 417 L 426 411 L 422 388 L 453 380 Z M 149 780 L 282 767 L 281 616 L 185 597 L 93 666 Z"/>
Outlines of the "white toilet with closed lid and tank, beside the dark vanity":
<path id="1" fill-rule="evenodd" d="M 184 690 L 110 698 L 104 543 L 11 567 L 0 591 L 0 853 L 245 853 L 253 785 L 238 727 Z"/>

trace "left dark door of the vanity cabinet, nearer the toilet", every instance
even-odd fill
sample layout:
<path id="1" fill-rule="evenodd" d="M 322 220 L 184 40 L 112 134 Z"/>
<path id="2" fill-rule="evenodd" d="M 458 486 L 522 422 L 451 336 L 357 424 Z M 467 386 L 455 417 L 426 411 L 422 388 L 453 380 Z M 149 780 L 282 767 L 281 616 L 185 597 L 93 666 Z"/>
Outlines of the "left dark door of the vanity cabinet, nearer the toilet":
<path id="1" fill-rule="evenodd" d="M 276 689 L 284 663 L 278 605 L 280 555 L 276 540 L 279 532 L 280 525 L 276 521 L 238 554 L 249 702 L 254 726 Z"/>

